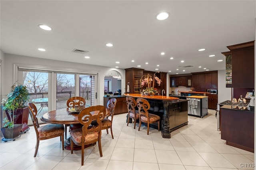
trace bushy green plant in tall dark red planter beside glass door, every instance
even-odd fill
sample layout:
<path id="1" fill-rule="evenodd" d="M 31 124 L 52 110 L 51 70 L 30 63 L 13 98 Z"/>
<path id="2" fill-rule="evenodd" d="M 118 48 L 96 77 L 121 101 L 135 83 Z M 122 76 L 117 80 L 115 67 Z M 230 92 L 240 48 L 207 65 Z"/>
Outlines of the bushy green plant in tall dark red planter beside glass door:
<path id="1" fill-rule="evenodd" d="M 21 132 L 29 130 L 28 117 L 29 111 L 26 103 L 29 99 L 26 86 L 14 83 L 11 92 L 6 95 L 6 99 L 2 99 L 2 109 L 6 112 L 8 122 L 6 126 L 13 124 L 22 124 Z M 6 119 L 7 120 L 7 119 Z"/>

